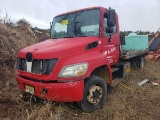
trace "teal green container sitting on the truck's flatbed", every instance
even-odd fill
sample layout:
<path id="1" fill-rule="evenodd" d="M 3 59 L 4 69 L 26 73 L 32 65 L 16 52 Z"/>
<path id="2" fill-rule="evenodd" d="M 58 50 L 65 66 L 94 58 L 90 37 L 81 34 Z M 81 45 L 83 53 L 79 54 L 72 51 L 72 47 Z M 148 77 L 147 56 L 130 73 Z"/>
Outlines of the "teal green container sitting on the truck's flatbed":
<path id="1" fill-rule="evenodd" d="M 139 51 L 148 49 L 148 35 L 137 35 L 130 33 L 125 36 L 125 45 L 122 45 L 124 51 Z"/>

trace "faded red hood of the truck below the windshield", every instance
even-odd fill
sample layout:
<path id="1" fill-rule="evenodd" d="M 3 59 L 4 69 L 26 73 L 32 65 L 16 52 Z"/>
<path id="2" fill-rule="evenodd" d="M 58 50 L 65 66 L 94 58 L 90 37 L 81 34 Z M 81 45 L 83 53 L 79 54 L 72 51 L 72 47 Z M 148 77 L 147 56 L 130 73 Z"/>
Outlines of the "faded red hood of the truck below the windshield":
<path id="1" fill-rule="evenodd" d="M 48 39 L 19 51 L 18 56 L 25 58 L 30 52 L 33 59 L 51 59 L 84 52 L 89 43 L 98 41 L 99 37 L 78 37 Z"/>

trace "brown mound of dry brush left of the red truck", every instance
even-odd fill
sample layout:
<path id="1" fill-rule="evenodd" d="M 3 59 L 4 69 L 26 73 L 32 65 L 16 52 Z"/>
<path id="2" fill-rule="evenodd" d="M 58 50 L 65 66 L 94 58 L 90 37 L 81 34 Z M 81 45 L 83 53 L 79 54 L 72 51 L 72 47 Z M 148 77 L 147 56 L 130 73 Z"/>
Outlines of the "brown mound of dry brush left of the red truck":
<path id="1" fill-rule="evenodd" d="M 11 87 L 17 88 L 14 76 L 17 52 L 21 48 L 49 38 L 48 30 L 41 31 L 41 34 L 34 32 L 24 19 L 19 20 L 16 26 L 0 23 L 0 96 L 4 92 L 8 94 L 9 91 L 14 91 L 9 89 Z"/>

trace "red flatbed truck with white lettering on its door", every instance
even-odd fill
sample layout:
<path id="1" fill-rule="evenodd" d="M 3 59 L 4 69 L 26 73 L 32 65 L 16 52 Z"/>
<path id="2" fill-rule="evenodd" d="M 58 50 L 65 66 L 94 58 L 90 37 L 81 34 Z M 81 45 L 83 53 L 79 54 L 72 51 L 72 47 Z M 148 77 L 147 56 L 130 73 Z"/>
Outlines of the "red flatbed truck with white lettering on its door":
<path id="1" fill-rule="evenodd" d="M 116 77 L 133 64 L 144 66 L 146 51 L 121 50 L 114 9 L 92 7 L 54 17 L 51 38 L 21 49 L 17 56 L 19 89 L 51 101 L 77 102 L 92 112 L 101 108 Z"/>

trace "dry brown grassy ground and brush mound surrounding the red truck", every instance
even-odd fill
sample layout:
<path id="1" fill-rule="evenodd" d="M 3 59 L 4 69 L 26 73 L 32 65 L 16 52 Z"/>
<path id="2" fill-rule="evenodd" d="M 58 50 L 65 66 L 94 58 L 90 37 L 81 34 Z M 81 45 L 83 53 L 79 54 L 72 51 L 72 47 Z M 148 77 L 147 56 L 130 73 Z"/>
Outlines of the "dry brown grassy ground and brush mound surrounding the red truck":
<path id="1" fill-rule="evenodd" d="M 160 85 L 152 84 L 160 84 L 160 60 L 146 61 L 144 69 L 132 70 L 108 93 L 103 109 L 93 113 L 81 111 L 75 103 L 22 100 L 14 74 L 17 51 L 43 39 L 40 32 L 22 28 L 0 24 L 0 120 L 160 120 Z M 144 79 L 149 82 L 138 86 Z"/>

